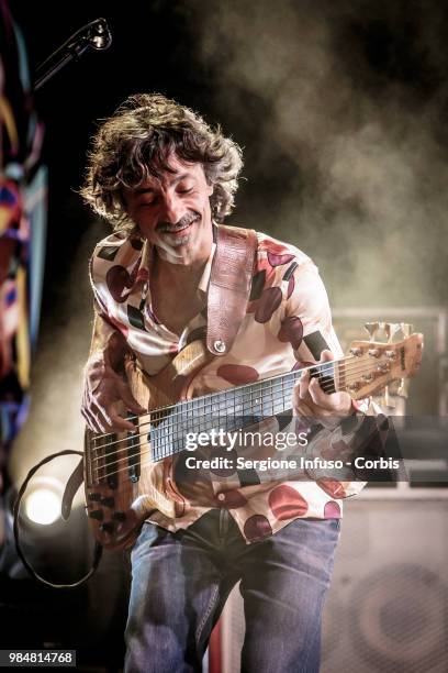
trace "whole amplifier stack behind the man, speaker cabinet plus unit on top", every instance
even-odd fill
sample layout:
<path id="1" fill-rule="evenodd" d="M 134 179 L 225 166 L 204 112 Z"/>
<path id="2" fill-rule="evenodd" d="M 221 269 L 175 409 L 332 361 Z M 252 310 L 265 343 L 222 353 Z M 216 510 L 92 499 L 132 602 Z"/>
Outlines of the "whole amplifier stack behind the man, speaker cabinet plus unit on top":
<path id="1" fill-rule="evenodd" d="M 407 399 L 390 413 L 405 443 L 427 454 L 407 463 L 408 482 L 367 486 L 344 503 L 341 539 L 323 616 L 321 673 L 445 673 L 448 670 L 448 478 L 440 446 L 448 437 L 447 335 L 444 307 L 333 311 L 346 351 L 360 324 L 405 319 L 425 334 L 425 352 Z M 379 398 L 379 401 L 380 398 Z M 435 457 L 436 456 L 436 457 Z M 441 475 L 441 481 L 434 475 Z M 424 479 L 424 472 L 426 478 Z M 220 673 L 238 673 L 245 619 L 235 587 L 220 620 Z M 293 635 L 285 635 L 293 637 Z"/>

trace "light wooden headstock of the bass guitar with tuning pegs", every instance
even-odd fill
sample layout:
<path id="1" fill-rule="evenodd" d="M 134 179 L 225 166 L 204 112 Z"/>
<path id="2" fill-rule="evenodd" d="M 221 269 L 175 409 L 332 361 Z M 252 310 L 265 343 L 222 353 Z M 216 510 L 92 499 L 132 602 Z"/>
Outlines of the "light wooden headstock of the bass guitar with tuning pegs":
<path id="1" fill-rule="evenodd" d="M 345 361 L 339 385 L 344 383 L 354 399 L 378 395 L 392 382 L 414 376 L 422 352 L 423 334 L 419 333 L 389 343 L 354 341 L 349 350 L 354 357 Z"/>

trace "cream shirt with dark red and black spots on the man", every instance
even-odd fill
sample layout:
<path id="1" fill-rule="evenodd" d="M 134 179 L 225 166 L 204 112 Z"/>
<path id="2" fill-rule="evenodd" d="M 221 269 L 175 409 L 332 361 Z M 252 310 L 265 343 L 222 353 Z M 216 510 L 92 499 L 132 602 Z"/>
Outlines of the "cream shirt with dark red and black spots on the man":
<path id="1" fill-rule="evenodd" d="M 317 362 L 324 349 L 336 357 L 343 355 L 332 326 L 327 294 L 312 260 L 267 234 L 257 233 L 257 238 L 246 317 L 229 352 L 213 358 L 194 376 L 194 397 L 299 369 Z M 204 304 L 214 252 L 213 244 L 198 287 Z M 157 374 L 186 344 L 203 336 L 206 329 L 206 309 L 186 326 L 180 336 L 158 320 L 149 287 L 154 254 L 147 241 L 115 233 L 97 245 L 90 264 L 100 342 L 120 330 L 148 375 Z M 336 428 L 322 428 L 316 440 L 321 454 L 340 455 L 350 442 L 358 441 L 365 415 L 373 416 L 376 409 L 369 401 L 357 408 L 362 412 L 349 417 L 354 422 L 349 421 L 348 427 L 343 422 Z M 292 418 L 291 423 L 300 430 L 300 419 Z M 163 462 L 154 467 L 163 470 Z M 298 474 L 293 481 L 278 472 L 273 477 L 277 478 L 269 471 L 256 470 L 251 478 L 244 481 L 237 470 L 210 474 L 216 507 L 229 510 L 247 542 L 270 536 L 296 518 L 340 518 L 341 498 L 357 494 L 365 485 L 349 478 L 321 478 L 318 474 L 311 477 L 309 472 Z M 156 510 L 148 520 L 176 531 L 209 509 L 187 501 L 179 516 L 168 518 Z"/>

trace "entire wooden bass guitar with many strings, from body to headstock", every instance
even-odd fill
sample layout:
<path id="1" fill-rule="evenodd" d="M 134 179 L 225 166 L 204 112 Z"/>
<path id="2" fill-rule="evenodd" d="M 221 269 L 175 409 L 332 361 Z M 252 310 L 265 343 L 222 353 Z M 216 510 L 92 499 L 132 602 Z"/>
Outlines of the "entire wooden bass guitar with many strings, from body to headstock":
<path id="1" fill-rule="evenodd" d="M 385 344 L 356 341 L 350 355 L 303 369 L 309 368 L 311 376 L 320 377 L 324 391 L 346 390 L 352 398 L 362 399 L 383 390 L 391 382 L 414 376 L 419 367 L 422 350 L 422 334 L 411 334 L 400 342 Z M 135 360 L 128 360 L 125 368 L 131 389 L 148 413 L 133 417 L 135 432 L 98 434 L 86 430 L 87 510 L 93 534 L 105 549 L 132 545 L 152 510 L 158 509 L 168 518 L 179 517 L 186 511 L 187 499 L 177 488 L 172 475 L 173 456 L 183 451 L 186 429 L 197 428 L 201 422 L 203 429 L 208 415 L 212 418 L 210 428 L 213 429 L 213 413 L 219 418 L 221 415 L 223 420 L 228 417 L 228 423 L 232 423 L 232 418 L 259 417 L 260 410 L 265 416 L 265 408 L 270 410 L 266 417 L 291 409 L 293 385 L 303 369 L 235 386 L 224 395 L 212 393 L 177 405 L 197 397 L 194 376 L 213 357 L 205 343 L 198 340 L 188 344 L 159 374 L 150 377 L 142 372 Z M 206 413 L 204 409 L 208 409 Z M 237 429 L 232 424 L 228 427 Z M 210 503 L 208 486 L 210 484 L 201 490 L 203 484 L 192 486 L 182 482 L 189 501 L 203 505 Z"/>

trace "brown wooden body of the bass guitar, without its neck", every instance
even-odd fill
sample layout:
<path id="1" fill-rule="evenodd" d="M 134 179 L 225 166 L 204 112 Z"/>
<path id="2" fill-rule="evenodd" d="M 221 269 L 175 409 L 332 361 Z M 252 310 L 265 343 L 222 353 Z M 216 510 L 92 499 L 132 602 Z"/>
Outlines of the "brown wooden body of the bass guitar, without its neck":
<path id="1" fill-rule="evenodd" d="M 156 376 L 147 376 L 128 360 L 126 376 L 134 397 L 150 411 L 190 399 L 194 375 L 212 358 L 204 342 L 194 341 Z M 86 429 L 87 514 L 96 539 L 105 549 L 131 547 L 152 510 L 172 518 L 186 507 L 172 479 L 172 457 L 150 460 L 148 417 L 136 418 L 135 423 L 135 435 L 101 435 Z"/>

